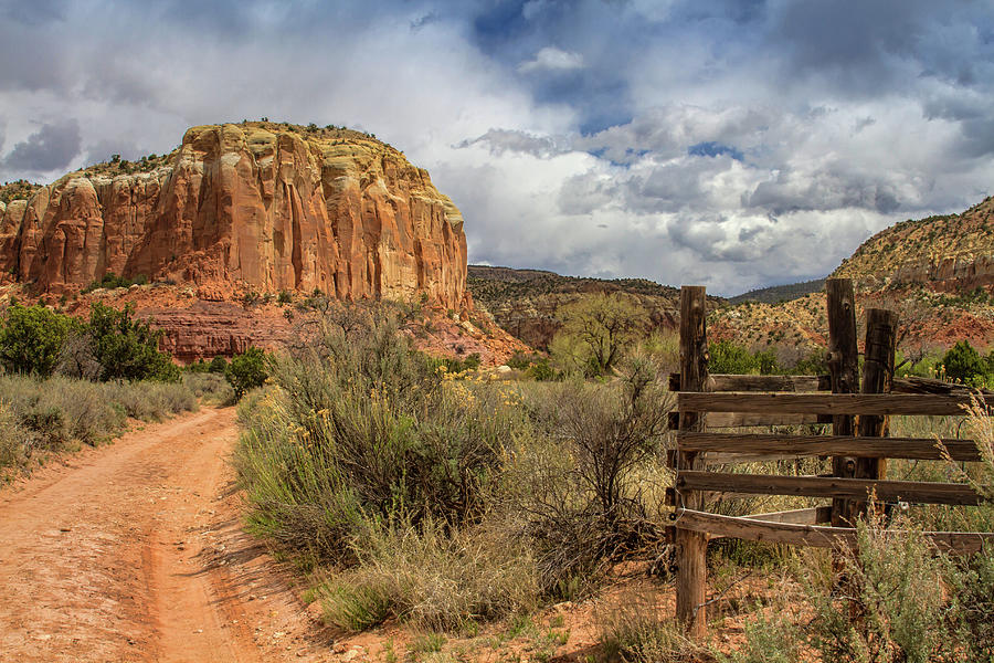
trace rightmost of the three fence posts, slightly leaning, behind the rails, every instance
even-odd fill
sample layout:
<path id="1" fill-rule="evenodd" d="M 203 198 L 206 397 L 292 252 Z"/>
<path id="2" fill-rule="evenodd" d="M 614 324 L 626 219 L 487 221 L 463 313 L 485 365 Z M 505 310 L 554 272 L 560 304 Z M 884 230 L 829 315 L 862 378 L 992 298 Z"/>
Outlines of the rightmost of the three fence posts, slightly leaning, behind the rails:
<path id="1" fill-rule="evenodd" d="M 897 314 L 886 308 L 868 308 L 866 312 L 866 349 L 863 362 L 863 393 L 889 393 L 893 385 L 893 359 L 897 350 Z M 859 418 L 859 434 L 867 438 L 886 438 L 889 417 L 864 414 Z M 856 461 L 856 478 L 884 478 L 886 459 L 859 459 Z M 857 502 L 857 514 L 866 515 L 866 502 Z"/>

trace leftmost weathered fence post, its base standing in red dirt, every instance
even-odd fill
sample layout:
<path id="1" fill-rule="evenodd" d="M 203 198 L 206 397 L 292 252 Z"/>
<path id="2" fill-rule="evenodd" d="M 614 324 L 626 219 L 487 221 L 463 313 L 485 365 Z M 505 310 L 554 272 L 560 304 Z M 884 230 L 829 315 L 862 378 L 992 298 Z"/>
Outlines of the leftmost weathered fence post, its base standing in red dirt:
<path id="1" fill-rule="evenodd" d="M 707 296 L 698 285 L 680 288 L 680 391 L 706 391 L 708 385 Z M 704 431 L 704 415 L 681 412 L 681 431 Z M 680 452 L 677 469 L 698 470 L 704 463 L 697 452 Z M 704 496 L 698 491 L 678 495 L 677 506 L 699 511 Z M 691 636 L 707 630 L 708 535 L 676 528 L 676 615 Z"/>

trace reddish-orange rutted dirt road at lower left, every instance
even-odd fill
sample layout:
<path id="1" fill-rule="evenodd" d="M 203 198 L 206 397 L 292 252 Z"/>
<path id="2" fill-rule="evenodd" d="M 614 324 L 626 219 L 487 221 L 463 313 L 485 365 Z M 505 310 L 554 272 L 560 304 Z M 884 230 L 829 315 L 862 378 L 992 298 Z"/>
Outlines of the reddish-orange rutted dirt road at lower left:
<path id="1" fill-rule="evenodd" d="M 319 661 L 329 634 L 240 527 L 234 410 L 0 491 L 0 661 Z"/>

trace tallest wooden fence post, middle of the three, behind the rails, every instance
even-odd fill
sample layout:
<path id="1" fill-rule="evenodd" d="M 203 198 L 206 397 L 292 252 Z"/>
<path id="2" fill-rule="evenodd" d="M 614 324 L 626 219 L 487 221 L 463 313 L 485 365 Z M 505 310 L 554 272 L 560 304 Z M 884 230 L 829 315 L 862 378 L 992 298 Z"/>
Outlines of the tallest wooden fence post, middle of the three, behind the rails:
<path id="1" fill-rule="evenodd" d="M 859 350 L 856 345 L 856 293 L 852 278 L 829 278 L 825 282 L 828 299 L 828 371 L 832 393 L 859 391 Z M 832 418 L 832 434 L 854 435 L 855 418 L 848 414 Z M 839 478 L 856 476 L 856 459 L 833 456 L 832 474 Z M 853 502 L 836 497 L 832 501 L 832 525 L 852 527 Z"/>

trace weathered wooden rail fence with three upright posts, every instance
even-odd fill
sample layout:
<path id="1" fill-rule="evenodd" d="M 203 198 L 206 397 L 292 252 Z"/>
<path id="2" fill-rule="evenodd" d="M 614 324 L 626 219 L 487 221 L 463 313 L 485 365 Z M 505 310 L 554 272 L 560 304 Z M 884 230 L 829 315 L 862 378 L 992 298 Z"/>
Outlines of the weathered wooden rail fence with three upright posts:
<path id="1" fill-rule="evenodd" d="M 963 414 L 971 398 L 994 406 L 994 394 L 971 394 L 938 380 L 893 378 L 897 316 L 867 309 L 863 381 L 859 382 L 856 304 L 850 280 L 826 284 L 828 376 L 731 376 L 708 373 L 705 288 L 680 293 L 680 372 L 676 483 L 668 494 L 676 545 L 677 618 L 691 635 L 706 629 L 706 551 L 709 538 L 736 537 L 797 546 L 854 545 L 854 524 L 870 499 L 882 503 L 975 505 L 969 485 L 888 481 L 887 459 L 976 462 L 972 440 L 889 438 L 889 415 Z M 857 418 L 858 415 L 858 418 Z M 831 423 L 831 435 L 750 434 L 720 429 Z M 715 430 L 718 429 L 718 430 Z M 943 451 L 944 448 L 944 451 Z M 780 476 L 715 472 L 718 464 L 831 456 L 831 475 Z M 831 498 L 829 505 L 743 517 L 704 511 L 708 493 Z M 895 532 L 892 536 L 900 536 Z M 940 549 L 970 552 L 991 533 L 929 532 Z"/>

